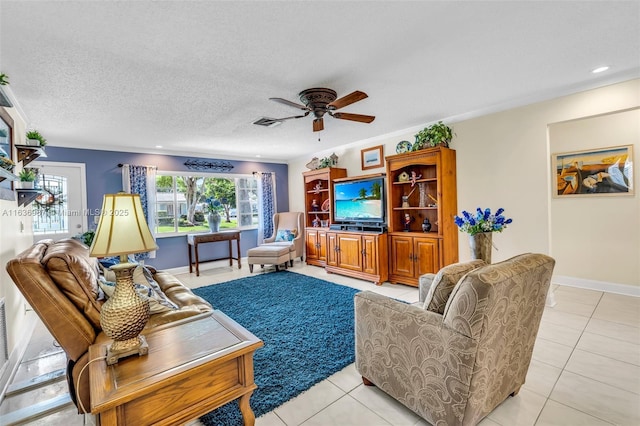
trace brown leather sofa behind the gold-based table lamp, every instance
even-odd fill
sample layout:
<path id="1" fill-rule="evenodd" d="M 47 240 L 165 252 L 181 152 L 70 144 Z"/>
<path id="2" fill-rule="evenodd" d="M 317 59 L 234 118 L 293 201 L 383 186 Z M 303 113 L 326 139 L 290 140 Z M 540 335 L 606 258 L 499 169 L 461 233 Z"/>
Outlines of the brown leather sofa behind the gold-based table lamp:
<path id="1" fill-rule="evenodd" d="M 177 309 L 152 314 L 145 330 L 211 312 L 213 308 L 167 272 L 149 268 L 153 279 Z M 90 411 L 89 346 L 108 340 L 100 327 L 104 303 L 98 284 L 100 266 L 79 241 L 40 241 L 7 263 L 7 271 L 18 289 L 67 354 L 67 383 L 71 399 Z M 144 331 L 143 331 L 144 333 Z M 81 403 L 78 403 L 78 398 Z"/>

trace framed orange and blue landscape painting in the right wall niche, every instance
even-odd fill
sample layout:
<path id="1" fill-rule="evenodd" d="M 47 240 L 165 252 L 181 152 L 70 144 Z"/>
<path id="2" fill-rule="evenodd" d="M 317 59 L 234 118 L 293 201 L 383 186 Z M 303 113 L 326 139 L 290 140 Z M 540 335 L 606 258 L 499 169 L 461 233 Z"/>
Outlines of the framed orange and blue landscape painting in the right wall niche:
<path id="1" fill-rule="evenodd" d="M 633 195 L 633 145 L 551 155 L 553 196 Z"/>

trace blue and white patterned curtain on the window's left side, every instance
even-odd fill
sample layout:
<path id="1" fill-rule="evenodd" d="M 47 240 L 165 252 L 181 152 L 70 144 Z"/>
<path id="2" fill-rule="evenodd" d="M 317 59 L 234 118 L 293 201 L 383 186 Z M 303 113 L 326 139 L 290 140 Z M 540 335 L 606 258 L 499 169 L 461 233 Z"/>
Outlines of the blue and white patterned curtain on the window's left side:
<path id="1" fill-rule="evenodd" d="M 155 236 L 155 167 L 133 166 L 125 164 L 122 167 L 122 187 L 124 192 L 139 194 L 144 216 L 151 233 Z M 135 259 L 140 261 L 155 257 L 155 252 L 136 253 Z"/>

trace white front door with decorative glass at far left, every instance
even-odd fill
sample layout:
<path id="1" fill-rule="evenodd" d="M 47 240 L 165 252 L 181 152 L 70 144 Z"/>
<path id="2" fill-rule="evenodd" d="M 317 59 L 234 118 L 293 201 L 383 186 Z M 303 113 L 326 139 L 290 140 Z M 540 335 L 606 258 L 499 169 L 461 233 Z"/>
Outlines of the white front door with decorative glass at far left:
<path id="1" fill-rule="evenodd" d="M 84 163 L 33 162 L 42 193 L 31 204 L 34 242 L 61 240 L 87 231 Z"/>

